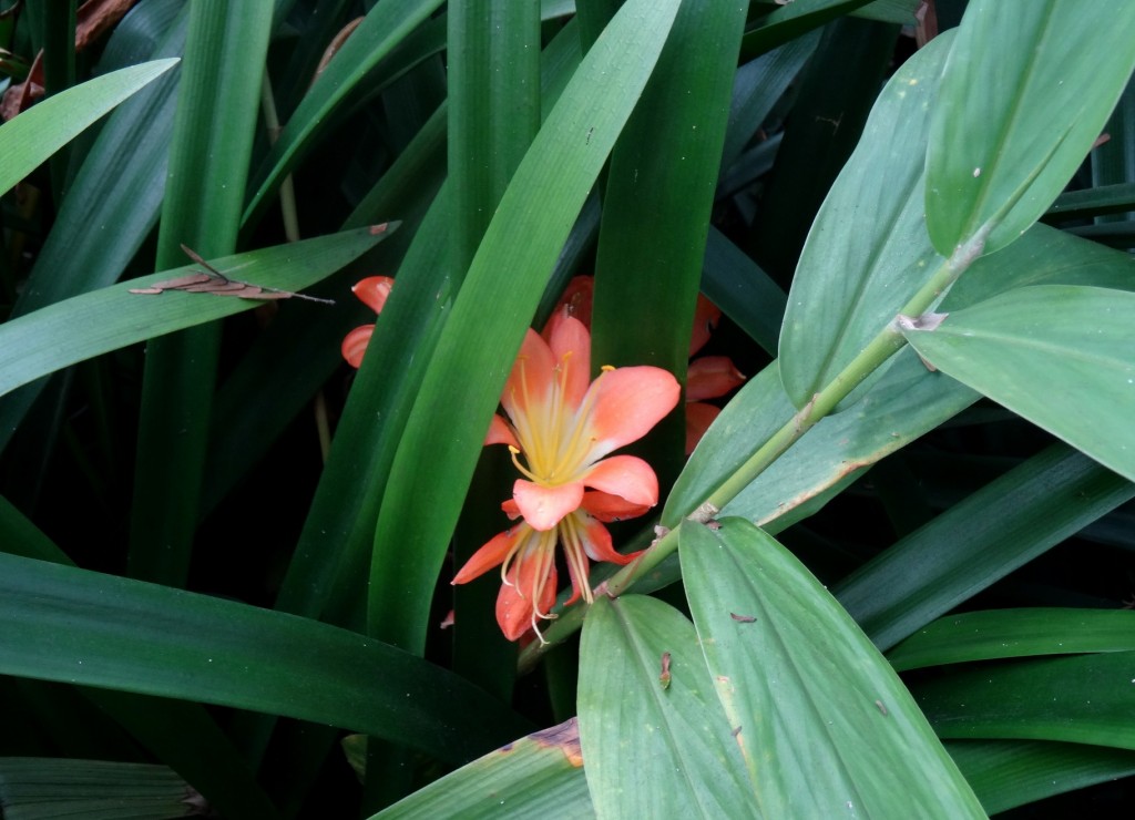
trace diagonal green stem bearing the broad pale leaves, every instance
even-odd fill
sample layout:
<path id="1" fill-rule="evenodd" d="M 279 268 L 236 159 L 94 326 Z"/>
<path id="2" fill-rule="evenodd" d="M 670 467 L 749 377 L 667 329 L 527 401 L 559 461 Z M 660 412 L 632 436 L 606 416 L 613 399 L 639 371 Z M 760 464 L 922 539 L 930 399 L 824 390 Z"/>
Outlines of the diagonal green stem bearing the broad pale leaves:
<path id="1" fill-rule="evenodd" d="M 737 498 L 746 487 L 751 484 L 768 465 L 780 458 L 801 436 L 829 415 L 840 401 L 847 398 L 856 387 L 878 370 L 896 353 L 906 346 L 902 335 L 905 328 L 914 327 L 917 318 L 931 311 L 945 295 L 950 286 L 957 281 L 969 265 L 981 255 L 985 239 L 992 229 L 992 222 L 986 222 L 967 242 L 958 245 L 950 259 L 944 260 L 925 285 L 911 297 L 899 314 L 886 323 L 878 335 L 859 352 L 824 389 L 812 397 L 796 415 L 780 430 L 772 434 L 732 475 L 723 481 L 688 518 L 698 523 L 712 521 L 726 504 Z M 916 319 L 911 319 L 916 318 Z M 611 598 L 617 598 L 633 587 L 634 583 L 653 572 L 665 558 L 678 549 L 678 529 L 665 533 L 650 544 L 649 549 L 639 556 L 638 560 L 628 564 L 615 573 L 602 587 Z M 531 669 L 540 656 L 556 643 L 563 641 L 583 623 L 586 607 L 575 607 L 560 615 L 555 624 L 548 627 L 544 637 L 546 643 L 531 643 L 521 652 L 520 670 Z"/>

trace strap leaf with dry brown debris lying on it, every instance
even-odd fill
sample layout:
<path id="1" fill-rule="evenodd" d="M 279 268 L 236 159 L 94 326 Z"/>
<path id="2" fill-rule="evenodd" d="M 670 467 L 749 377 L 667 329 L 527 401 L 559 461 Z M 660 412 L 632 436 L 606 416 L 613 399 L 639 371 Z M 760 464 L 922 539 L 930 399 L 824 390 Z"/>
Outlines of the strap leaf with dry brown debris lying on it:
<path id="1" fill-rule="evenodd" d="M 302 290 L 385 236 L 382 226 L 212 260 L 233 279 Z M 255 307 L 260 302 L 213 294 L 132 294 L 190 273 L 185 265 L 75 296 L 0 326 L 0 395 L 68 364 Z M 330 310 L 330 308 L 328 308 Z"/>

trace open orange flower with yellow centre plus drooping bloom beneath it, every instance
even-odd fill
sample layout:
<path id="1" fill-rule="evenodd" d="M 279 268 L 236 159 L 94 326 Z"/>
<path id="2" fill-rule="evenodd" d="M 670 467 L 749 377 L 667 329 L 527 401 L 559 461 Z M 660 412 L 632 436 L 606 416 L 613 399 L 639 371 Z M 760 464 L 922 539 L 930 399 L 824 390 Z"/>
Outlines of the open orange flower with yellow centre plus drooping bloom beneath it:
<path id="1" fill-rule="evenodd" d="M 641 458 L 608 454 L 645 436 L 680 395 L 678 381 L 659 367 L 604 367 L 590 381 L 591 337 L 574 318 L 554 322 L 548 337 L 528 331 L 501 397 L 508 419 L 494 416 L 485 441 L 507 445 L 526 476 L 503 505 L 523 522 L 481 547 L 453 581 L 462 584 L 502 566 L 497 622 L 510 640 L 549 617 L 557 543 L 572 601 L 591 601 L 588 559 L 632 558 L 614 550 L 603 522 L 656 505 L 658 479 Z"/>

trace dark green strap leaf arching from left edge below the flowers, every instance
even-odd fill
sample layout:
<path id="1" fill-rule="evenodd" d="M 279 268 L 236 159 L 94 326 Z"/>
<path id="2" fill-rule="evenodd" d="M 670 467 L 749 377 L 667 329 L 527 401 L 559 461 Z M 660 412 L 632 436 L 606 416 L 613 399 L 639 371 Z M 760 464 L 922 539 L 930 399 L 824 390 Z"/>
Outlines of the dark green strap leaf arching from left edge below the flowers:
<path id="1" fill-rule="evenodd" d="M 452 673 L 358 633 L 74 567 L 0 555 L 0 623 L 5 675 L 284 715 L 451 762 L 529 730 Z"/>

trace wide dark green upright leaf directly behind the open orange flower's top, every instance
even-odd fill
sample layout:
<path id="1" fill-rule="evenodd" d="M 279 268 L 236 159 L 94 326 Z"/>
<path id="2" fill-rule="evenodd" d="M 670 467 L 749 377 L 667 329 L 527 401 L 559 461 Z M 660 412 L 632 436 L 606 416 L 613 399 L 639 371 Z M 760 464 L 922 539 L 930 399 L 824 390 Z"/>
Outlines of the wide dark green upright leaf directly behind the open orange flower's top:
<path id="1" fill-rule="evenodd" d="M 682 3 L 612 152 L 595 261 L 595 373 L 648 364 L 686 380 L 745 15 L 742 3 Z M 664 487 L 684 462 L 683 415 L 675 408 L 632 449 Z"/>

